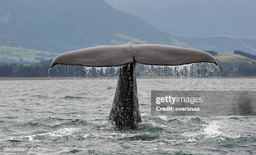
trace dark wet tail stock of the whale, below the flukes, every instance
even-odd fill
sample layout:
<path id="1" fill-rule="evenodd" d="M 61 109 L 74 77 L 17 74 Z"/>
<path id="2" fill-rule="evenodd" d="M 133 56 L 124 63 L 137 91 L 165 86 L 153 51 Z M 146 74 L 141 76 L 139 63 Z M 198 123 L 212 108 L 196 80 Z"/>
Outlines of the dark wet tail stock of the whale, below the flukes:
<path id="1" fill-rule="evenodd" d="M 121 129 L 136 129 L 136 124 L 141 122 L 136 82 L 136 61 L 120 67 L 109 120 L 115 122 L 116 127 Z"/>

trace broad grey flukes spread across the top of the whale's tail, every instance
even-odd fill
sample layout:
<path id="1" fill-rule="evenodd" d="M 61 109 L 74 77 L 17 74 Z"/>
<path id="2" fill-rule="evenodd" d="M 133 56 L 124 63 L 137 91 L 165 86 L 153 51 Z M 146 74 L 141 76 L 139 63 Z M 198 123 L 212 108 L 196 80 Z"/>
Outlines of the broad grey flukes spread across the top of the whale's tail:
<path id="1" fill-rule="evenodd" d="M 95 46 L 71 51 L 56 56 L 51 67 L 56 64 L 81 65 L 87 67 L 122 66 L 137 61 L 146 65 L 183 65 L 196 62 L 210 62 L 215 58 L 204 51 L 169 45 L 141 44 Z"/>

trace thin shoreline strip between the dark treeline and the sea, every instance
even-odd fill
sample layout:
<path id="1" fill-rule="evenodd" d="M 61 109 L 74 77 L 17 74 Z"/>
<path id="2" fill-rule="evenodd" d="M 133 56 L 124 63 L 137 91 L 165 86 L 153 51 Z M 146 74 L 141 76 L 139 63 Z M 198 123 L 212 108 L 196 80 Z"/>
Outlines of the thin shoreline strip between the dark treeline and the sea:
<path id="1" fill-rule="evenodd" d="M 64 80 L 64 79 L 118 79 L 118 77 L 0 77 L 0 81 L 12 80 Z M 137 79 L 166 79 L 166 77 L 145 77 L 138 76 Z M 170 78 L 176 79 L 176 78 Z M 184 78 L 185 79 L 185 78 Z M 206 78 L 207 79 L 207 78 Z M 242 76 L 242 77 L 221 77 L 221 79 L 256 79 L 256 76 Z"/>

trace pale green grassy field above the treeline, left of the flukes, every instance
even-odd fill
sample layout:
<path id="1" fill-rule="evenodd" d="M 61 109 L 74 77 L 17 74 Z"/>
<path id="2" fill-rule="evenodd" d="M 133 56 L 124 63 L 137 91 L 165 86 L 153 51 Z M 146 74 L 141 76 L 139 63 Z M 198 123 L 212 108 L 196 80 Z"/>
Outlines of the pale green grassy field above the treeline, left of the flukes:
<path id="1" fill-rule="evenodd" d="M 0 46 L 0 62 L 8 63 L 30 63 L 49 60 L 57 56 L 59 53 L 48 51 L 39 51 L 34 49 L 26 49 L 22 47 Z"/>

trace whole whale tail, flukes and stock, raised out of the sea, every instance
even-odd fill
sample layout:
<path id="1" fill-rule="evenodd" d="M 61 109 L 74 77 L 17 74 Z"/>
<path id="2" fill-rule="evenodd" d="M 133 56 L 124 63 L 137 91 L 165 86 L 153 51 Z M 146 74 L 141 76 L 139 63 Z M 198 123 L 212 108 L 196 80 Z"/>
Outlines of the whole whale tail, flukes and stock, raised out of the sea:
<path id="1" fill-rule="evenodd" d="M 136 63 L 147 65 L 182 65 L 209 62 L 216 65 L 215 58 L 203 51 L 168 45 L 142 44 L 120 46 L 96 46 L 71 51 L 56 56 L 56 64 L 87 67 L 120 66 L 120 75 L 109 119 L 121 129 L 136 129 L 141 122 L 138 104 Z"/>

